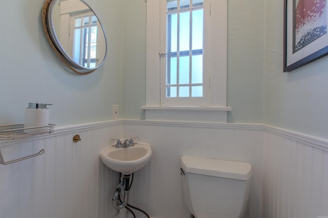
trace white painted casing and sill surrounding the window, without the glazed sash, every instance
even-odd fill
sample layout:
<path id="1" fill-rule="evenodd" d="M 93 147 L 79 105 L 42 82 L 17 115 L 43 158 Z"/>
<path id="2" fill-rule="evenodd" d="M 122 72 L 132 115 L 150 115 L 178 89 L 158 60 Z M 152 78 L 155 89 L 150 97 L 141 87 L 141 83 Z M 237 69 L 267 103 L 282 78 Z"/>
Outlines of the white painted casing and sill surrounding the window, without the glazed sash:
<path id="1" fill-rule="evenodd" d="M 227 122 L 227 0 L 204 0 L 204 71 L 209 73 L 207 103 L 163 106 L 161 81 L 166 74 L 166 0 L 147 1 L 146 119 Z M 206 51 L 206 52 L 205 52 Z M 206 74 L 206 73 L 205 73 Z M 165 76 L 164 76 L 165 78 Z M 206 81 L 208 80 L 208 81 Z M 165 84 L 165 82 L 163 82 Z M 202 115 L 203 114 L 203 115 Z"/>

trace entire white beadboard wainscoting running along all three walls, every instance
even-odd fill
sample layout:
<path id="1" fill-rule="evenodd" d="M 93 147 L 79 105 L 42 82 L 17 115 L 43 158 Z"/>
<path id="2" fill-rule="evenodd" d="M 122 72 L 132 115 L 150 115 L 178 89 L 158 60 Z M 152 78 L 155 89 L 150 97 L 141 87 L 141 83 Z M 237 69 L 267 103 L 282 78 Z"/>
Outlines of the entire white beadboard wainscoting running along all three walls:
<path id="1" fill-rule="evenodd" d="M 81 141 L 72 141 L 75 134 Z M 150 143 L 153 153 L 135 173 L 129 203 L 152 217 L 190 217 L 182 197 L 181 155 L 250 162 L 251 218 L 328 215 L 324 139 L 262 124 L 115 120 L 0 142 L 6 161 L 46 151 L 0 165 L 0 218 L 114 218 L 118 174 L 101 163 L 99 152 L 111 138 L 133 136 Z"/>

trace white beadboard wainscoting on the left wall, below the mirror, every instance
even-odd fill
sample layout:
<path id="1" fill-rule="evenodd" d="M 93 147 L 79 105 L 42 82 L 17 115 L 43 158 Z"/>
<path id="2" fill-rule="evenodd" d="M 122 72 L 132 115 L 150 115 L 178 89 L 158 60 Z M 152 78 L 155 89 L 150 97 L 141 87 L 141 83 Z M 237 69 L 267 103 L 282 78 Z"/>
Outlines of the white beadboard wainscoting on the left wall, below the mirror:
<path id="1" fill-rule="evenodd" d="M 119 122 L 107 122 L 58 128 L 51 137 L 14 144 L 6 141 L 0 147 L 6 161 L 41 149 L 45 154 L 0 164 L 0 217 L 114 217 L 117 211 L 110 205 L 118 175 L 100 162 L 99 152 L 120 133 Z M 75 134 L 81 141 L 73 142 Z"/>

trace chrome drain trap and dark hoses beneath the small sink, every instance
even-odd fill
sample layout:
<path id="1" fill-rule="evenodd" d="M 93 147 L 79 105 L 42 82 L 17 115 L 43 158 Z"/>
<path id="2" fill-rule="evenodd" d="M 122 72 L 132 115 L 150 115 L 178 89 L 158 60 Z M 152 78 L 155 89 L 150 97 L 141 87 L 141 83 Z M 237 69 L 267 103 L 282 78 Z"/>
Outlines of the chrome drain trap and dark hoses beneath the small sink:
<path id="1" fill-rule="evenodd" d="M 131 174 L 124 175 L 122 181 L 121 181 L 121 175 L 122 174 L 120 173 L 119 174 L 119 178 L 120 178 L 119 184 L 115 188 L 114 196 L 112 199 L 114 208 L 118 209 L 118 210 L 120 210 L 122 208 L 126 208 L 127 210 L 129 210 L 132 213 L 133 217 L 135 218 L 136 216 L 135 216 L 134 212 L 131 210 L 131 208 L 133 208 L 135 210 L 138 210 L 138 211 L 144 213 L 148 218 L 150 218 L 148 213 L 146 213 L 144 210 L 141 210 L 140 208 L 137 208 L 137 207 L 134 207 L 134 206 L 128 204 L 129 191 L 130 191 L 130 188 L 131 188 L 132 182 L 133 182 L 133 173 L 132 173 L 131 183 L 130 183 Z M 124 200 L 123 201 L 120 198 L 121 191 L 124 191 Z"/>

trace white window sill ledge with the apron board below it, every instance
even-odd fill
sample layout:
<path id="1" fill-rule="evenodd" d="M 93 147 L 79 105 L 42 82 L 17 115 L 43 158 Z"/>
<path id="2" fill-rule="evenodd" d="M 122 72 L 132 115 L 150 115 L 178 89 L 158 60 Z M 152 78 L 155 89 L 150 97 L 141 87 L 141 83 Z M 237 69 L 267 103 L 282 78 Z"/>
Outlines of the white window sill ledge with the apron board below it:
<path id="1" fill-rule="evenodd" d="M 231 107 L 179 107 L 141 106 L 146 111 L 146 120 L 176 120 L 192 122 L 227 123 L 227 112 Z"/>

